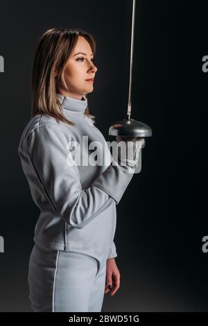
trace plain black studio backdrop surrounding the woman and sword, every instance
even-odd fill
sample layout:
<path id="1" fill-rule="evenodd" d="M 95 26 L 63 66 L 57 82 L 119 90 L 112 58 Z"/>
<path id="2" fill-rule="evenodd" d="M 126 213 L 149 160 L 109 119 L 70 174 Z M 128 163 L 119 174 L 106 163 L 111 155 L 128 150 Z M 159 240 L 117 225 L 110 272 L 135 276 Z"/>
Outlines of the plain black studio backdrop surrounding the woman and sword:
<path id="1" fill-rule="evenodd" d="M 0 19 L 0 311 L 31 311 L 27 268 L 39 209 L 17 153 L 30 118 L 31 67 L 48 28 L 83 28 L 96 39 L 89 110 L 105 139 L 128 103 L 132 1 L 3 1 Z M 205 1 L 137 0 L 132 118 L 147 123 L 142 168 L 117 205 L 114 241 L 121 286 L 103 311 L 207 311 L 208 55 Z"/>

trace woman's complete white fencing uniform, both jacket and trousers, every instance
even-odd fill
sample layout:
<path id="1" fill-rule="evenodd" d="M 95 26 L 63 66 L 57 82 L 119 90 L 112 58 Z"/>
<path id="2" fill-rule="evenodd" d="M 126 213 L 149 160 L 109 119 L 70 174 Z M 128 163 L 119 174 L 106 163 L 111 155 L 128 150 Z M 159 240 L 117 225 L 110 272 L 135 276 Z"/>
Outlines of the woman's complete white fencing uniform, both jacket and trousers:
<path id="1" fill-rule="evenodd" d="M 34 311 L 101 311 L 106 260 L 117 256 L 116 205 L 133 173 L 112 164 L 103 134 L 84 114 L 87 98 L 56 96 L 75 125 L 37 114 L 18 148 L 40 208 L 28 268 L 31 305 Z M 102 164 L 89 163 L 95 151 Z"/>

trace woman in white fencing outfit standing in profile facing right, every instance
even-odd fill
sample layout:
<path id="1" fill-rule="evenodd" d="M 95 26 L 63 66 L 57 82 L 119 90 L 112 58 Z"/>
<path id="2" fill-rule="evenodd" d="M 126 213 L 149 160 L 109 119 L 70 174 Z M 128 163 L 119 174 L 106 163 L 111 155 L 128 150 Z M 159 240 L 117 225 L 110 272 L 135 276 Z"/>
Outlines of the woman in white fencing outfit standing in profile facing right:
<path id="1" fill-rule="evenodd" d="M 141 141 L 135 141 L 133 160 L 120 155 L 115 165 L 86 161 L 94 142 L 101 145 L 98 156 L 105 148 L 105 158 L 112 158 L 87 108 L 95 51 L 89 33 L 52 28 L 35 53 L 32 116 L 19 142 L 22 168 L 40 208 L 28 267 L 33 311 L 101 311 L 104 293 L 119 289 L 116 204 L 132 179 Z"/>

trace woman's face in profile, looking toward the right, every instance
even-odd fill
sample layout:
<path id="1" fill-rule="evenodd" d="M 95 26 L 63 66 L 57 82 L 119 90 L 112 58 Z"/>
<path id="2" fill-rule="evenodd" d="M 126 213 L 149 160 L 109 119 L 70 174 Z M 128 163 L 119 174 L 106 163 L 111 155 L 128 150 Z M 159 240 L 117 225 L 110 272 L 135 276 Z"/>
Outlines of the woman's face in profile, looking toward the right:
<path id="1" fill-rule="evenodd" d="M 93 64 L 93 54 L 89 43 L 85 37 L 79 36 L 78 42 L 64 67 L 65 85 L 58 87 L 58 93 L 80 100 L 83 95 L 93 91 L 93 83 L 87 79 L 94 78 L 97 70 Z"/>

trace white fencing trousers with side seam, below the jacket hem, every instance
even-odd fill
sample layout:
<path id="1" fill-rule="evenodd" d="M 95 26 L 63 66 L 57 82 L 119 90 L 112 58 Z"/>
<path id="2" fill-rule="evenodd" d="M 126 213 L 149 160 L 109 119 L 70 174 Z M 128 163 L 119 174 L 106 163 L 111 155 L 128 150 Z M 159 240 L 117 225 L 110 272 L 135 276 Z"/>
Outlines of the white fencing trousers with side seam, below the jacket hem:
<path id="1" fill-rule="evenodd" d="M 33 246 L 28 266 L 33 311 L 101 311 L 106 260 Z"/>

